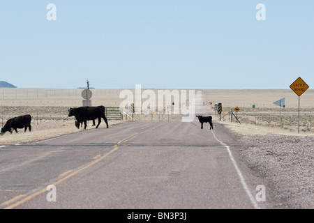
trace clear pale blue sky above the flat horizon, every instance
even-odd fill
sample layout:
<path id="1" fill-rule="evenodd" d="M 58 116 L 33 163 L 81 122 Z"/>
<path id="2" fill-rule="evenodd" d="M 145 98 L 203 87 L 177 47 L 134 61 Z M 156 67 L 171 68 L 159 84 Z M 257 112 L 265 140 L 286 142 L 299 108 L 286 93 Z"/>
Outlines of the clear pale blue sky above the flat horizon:
<path id="1" fill-rule="evenodd" d="M 47 5 L 57 6 L 49 21 Z M 265 19 L 257 20 L 263 3 Z M 314 1 L 0 1 L 0 80 L 20 88 L 314 86 Z"/>

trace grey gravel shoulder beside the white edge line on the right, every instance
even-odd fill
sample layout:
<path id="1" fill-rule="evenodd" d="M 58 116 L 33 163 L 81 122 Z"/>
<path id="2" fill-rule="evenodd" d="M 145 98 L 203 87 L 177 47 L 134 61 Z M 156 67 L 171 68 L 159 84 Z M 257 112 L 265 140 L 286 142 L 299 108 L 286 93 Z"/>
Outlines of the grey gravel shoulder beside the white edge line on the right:
<path id="1" fill-rule="evenodd" d="M 242 160 L 269 185 L 274 208 L 314 208 L 314 136 L 225 123 L 239 133 Z M 257 132 L 261 132 L 257 134 Z"/>

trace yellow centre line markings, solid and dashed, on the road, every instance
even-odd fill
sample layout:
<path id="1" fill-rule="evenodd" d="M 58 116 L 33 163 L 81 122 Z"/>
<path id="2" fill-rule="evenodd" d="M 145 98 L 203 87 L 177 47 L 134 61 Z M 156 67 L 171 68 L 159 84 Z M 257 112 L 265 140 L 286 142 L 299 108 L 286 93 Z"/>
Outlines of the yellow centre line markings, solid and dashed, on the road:
<path id="1" fill-rule="evenodd" d="M 144 131 L 146 132 L 146 131 Z M 140 132 L 142 133 L 142 132 Z M 137 134 L 140 134 L 140 133 L 136 133 L 136 134 L 132 134 L 124 139 L 121 139 L 117 145 L 114 145 L 112 150 L 109 151 L 108 153 L 106 153 L 105 155 L 101 156 L 101 155 L 96 155 L 96 157 L 94 157 L 94 161 L 93 162 L 90 162 L 89 164 L 85 165 L 84 167 L 81 167 L 80 169 L 77 169 L 76 171 L 73 171 L 73 170 L 68 170 L 66 172 L 64 172 L 63 174 L 60 174 L 59 176 L 64 176 L 63 178 L 61 178 L 60 180 L 57 180 L 56 182 L 54 183 L 51 183 L 51 185 L 57 185 L 61 182 L 63 182 L 64 180 L 72 177 L 72 176 L 75 176 L 75 174 L 78 174 L 80 173 L 81 171 L 83 171 L 84 169 L 87 169 L 91 166 L 93 166 L 94 164 L 100 162 L 100 160 L 103 160 L 105 157 L 107 157 L 108 155 L 110 155 L 111 153 L 113 153 L 114 151 L 116 151 L 118 148 L 119 148 L 119 144 L 121 144 L 122 142 L 126 141 L 126 139 L 130 139 L 131 137 L 135 137 L 135 135 Z M 69 174 L 70 173 L 70 174 Z M 68 174 L 68 175 L 67 175 Z M 24 197 L 25 195 L 23 194 L 20 194 L 20 195 L 17 195 L 16 197 L 13 197 L 13 199 L 10 199 L 8 201 L 5 201 L 3 203 L 0 203 L 0 206 L 7 206 L 6 208 L 4 209 L 13 209 L 13 208 L 16 208 L 17 206 L 20 206 L 22 203 L 25 203 L 31 199 L 33 199 L 34 197 L 37 197 L 38 195 L 40 194 L 43 194 L 47 192 L 47 189 L 46 188 L 43 188 L 42 190 L 39 190 L 38 192 L 35 192 L 27 197 Z M 22 197 L 24 197 L 23 199 L 21 199 Z M 19 200 L 20 199 L 20 200 Z M 19 201 L 17 201 L 19 200 Z M 15 202 L 17 201 L 17 202 Z M 15 202 L 15 203 L 14 203 Z M 11 204 L 12 203 L 12 204 Z"/>

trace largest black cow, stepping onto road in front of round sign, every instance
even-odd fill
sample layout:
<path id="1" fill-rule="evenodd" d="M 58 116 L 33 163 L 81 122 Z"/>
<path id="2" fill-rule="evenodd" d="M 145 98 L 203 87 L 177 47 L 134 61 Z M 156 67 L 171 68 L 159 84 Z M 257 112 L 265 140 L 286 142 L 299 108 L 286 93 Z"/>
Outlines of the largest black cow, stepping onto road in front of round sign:
<path id="1" fill-rule="evenodd" d="M 88 120 L 94 120 L 98 118 L 98 124 L 96 128 L 101 123 L 101 118 L 105 121 L 107 128 L 108 122 L 105 116 L 105 107 L 100 105 L 98 107 L 77 107 L 77 108 L 70 108 L 68 109 L 68 117 L 75 116 L 75 126 L 80 126 L 80 123 L 84 122 L 84 129 L 87 127 Z"/>

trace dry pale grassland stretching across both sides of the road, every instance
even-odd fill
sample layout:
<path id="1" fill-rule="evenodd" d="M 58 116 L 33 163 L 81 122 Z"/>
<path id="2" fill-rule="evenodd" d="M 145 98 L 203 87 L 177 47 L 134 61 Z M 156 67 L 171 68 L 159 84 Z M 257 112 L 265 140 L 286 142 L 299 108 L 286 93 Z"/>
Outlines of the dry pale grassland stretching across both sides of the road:
<path id="1" fill-rule="evenodd" d="M 123 89 L 91 89 L 92 105 L 105 107 L 119 107 L 125 98 L 119 98 Z M 157 92 L 157 89 L 153 89 Z M 134 91 L 134 89 L 131 89 Z M 142 89 L 144 91 L 144 89 Z M 230 123 L 230 116 L 220 121 L 228 128 L 240 133 L 280 133 L 297 134 L 298 97 L 291 90 L 195 90 L 202 91 L 203 104 L 207 105 L 209 114 L 214 114 L 214 104 L 223 103 L 223 114 L 234 107 L 239 107 L 239 123 Z M 61 134 L 77 132 L 74 119 L 68 118 L 69 107 L 82 106 L 82 89 L 0 89 L 0 123 L 6 123 L 8 118 L 22 114 L 33 117 L 33 131 L 19 134 L 6 133 L 0 137 L 0 144 L 20 144 L 29 141 L 47 139 Z M 157 95 L 157 93 L 156 93 Z M 283 129 L 280 126 L 279 107 L 273 102 L 285 98 L 286 107 L 283 109 Z M 312 114 L 314 105 L 314 90 L 308 89 L 301 96 L 301 135 L 313 134 Z M 144 102 L 146 99 L 142 99 Z M 209 102 L 212 102 L 210 105 Z M 255 105 L 255 109 L 252 108 Z M 168 121 L 181 118 L 178 115 L 135 115 L 137 120 Z M 126 116 L 124 115 L 124 119 Z M 130 118 L 128 118 L 130 120 Z M 218 121 L 217 117 L 214 117 Z M 117 121 L 110 121 L 110 124 Z M 91 128 L 91 125 L 88 127 Z"/>

